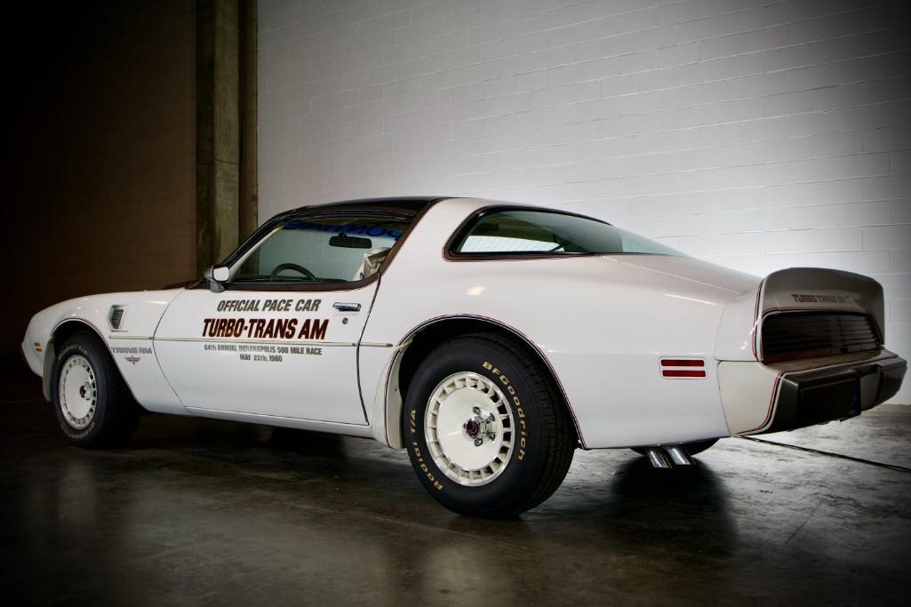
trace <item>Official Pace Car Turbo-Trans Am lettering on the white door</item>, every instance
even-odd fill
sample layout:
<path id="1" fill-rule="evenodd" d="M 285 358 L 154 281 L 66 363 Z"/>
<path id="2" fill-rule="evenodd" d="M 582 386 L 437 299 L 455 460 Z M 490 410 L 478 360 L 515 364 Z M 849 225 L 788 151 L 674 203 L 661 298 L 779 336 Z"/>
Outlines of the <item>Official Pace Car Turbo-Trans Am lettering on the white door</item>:
<path id="1" fill-rule="evenodd" d="M 219 302 L 216 311 L 235 313 L 279 312 L 287 318 L 262 318 L 241 316 L 237 318 L 203 318 L 202 337 L 216 340 L 272 341 L 305 340 L 323 341 L 329 328 L 328 318 L 295 318 L 292 314 L 319 312 L 319 299 L 227 299 Z M 216 341 L 203 345 L 206 352 L 236 352 L 241 361 L 281 363 L 284 355 L 322 355 L 322 347 L 311 345 L 271 345 L 222 343 Z"/>

